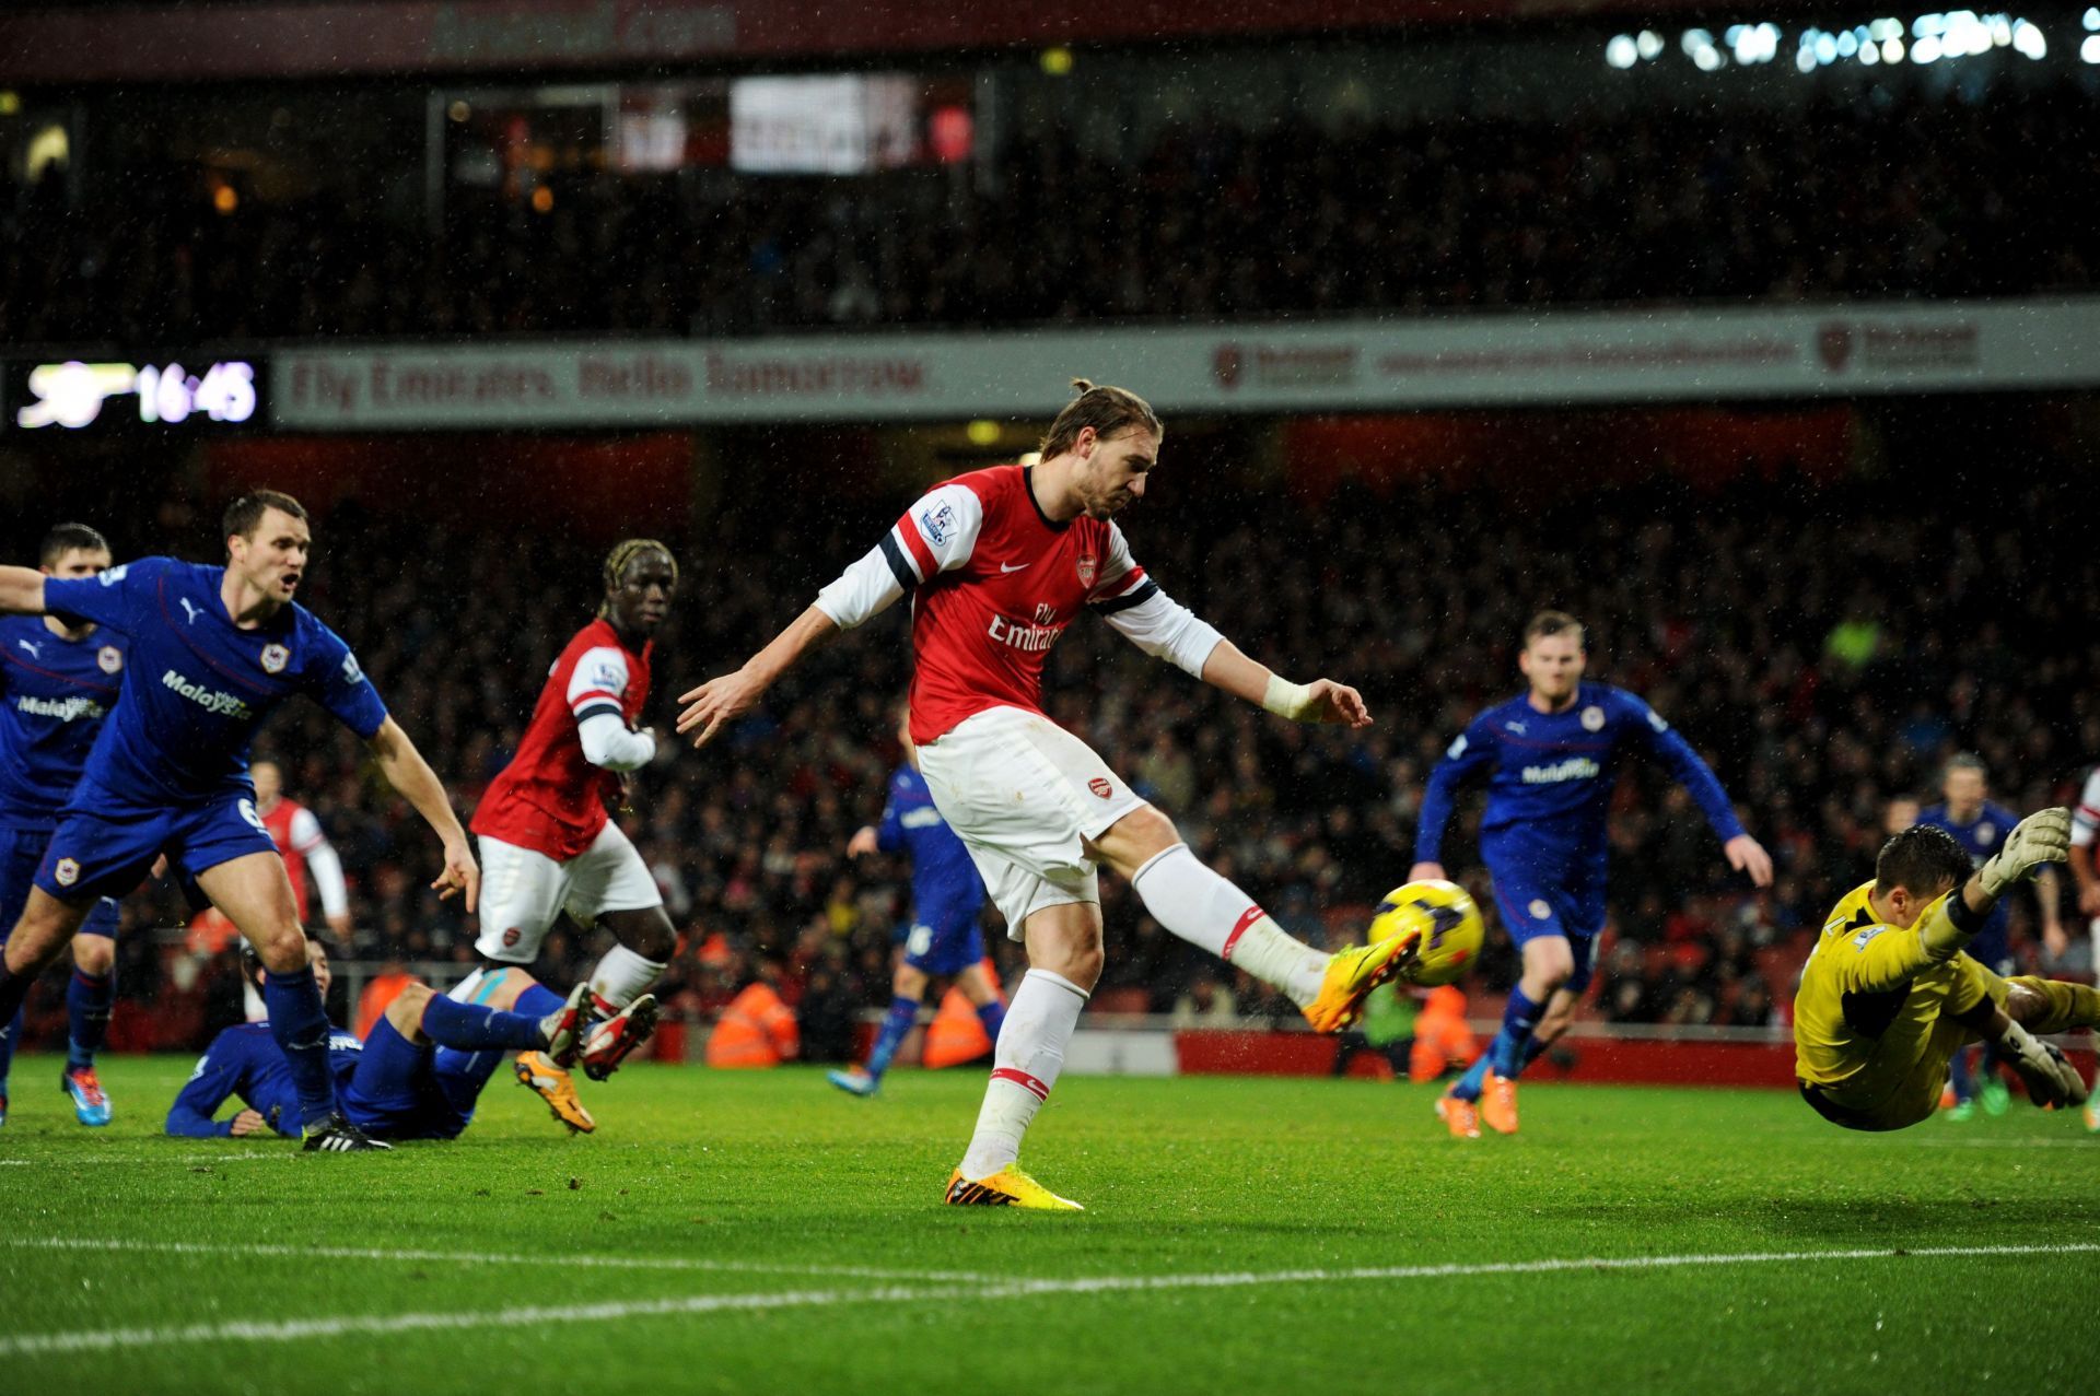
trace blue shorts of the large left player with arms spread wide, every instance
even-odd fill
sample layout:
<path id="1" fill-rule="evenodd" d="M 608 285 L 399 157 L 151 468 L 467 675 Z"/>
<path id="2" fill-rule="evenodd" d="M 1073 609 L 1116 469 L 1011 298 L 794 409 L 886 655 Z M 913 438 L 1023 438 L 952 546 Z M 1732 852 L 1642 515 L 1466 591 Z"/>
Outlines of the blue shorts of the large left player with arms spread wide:
<path id="1" fill-rule="evenodd" d="M 50 836 L 36 886 L 65 903 L 124 896 L 168 854 L 183 882 L 250 852 L 277 852 L 246 791 L 212 796 L 193 808 L 67 810 Z"/>

